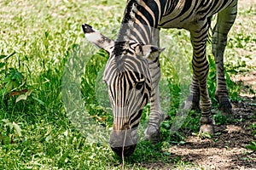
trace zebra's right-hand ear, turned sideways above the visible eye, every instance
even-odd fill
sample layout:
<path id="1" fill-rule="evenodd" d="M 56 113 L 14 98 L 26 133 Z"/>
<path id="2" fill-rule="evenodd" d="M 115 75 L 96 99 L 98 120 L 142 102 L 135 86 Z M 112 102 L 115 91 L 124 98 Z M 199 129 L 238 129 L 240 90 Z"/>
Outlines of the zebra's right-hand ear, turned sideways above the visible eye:
<path id="1" fill-rule="evenodd" d="M 164 50 L 165 48 L 159 48 L 154 45 L 142 45 L 136 48 L 136 54 L 143 56 L 145 59 L 154 60 L 159 57 L 160 53 Z"/>

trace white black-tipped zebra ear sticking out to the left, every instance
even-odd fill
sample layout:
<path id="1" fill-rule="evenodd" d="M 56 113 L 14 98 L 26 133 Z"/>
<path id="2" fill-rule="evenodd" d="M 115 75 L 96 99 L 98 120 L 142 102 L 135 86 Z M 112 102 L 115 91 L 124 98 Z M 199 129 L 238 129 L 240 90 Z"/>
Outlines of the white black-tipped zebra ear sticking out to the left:
<path id="1" fill-rule="evenodd" d="M 103 48 L 108 53 L 110 52 L 110 48 L 113 46 L 114 41 L 109 39 L 108 37 L 103 36 L 100 32 L 95 31 L 91 26 L 87 24 L 82 25 L 84 35 L 86 39 L 95 44 L 98 48 Z"/>

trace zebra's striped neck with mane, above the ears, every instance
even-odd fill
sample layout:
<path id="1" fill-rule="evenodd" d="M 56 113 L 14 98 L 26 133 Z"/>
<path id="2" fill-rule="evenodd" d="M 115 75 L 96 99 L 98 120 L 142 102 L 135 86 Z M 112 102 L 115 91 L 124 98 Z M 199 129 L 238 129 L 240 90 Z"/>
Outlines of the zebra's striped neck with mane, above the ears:
<path id="1" fill-rule="evenodd" d="M 166 3 L 167 0 L 129 0 L 117 41 L 133 40 L 143 44 L 154 42 L 160 18 L 166 10 Z"/>

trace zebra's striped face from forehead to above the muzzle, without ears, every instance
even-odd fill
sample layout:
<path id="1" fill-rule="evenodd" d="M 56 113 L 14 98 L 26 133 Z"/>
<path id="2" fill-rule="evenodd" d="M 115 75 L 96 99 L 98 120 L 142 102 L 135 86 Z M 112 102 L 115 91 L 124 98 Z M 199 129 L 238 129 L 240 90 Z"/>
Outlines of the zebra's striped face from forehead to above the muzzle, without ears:
<path id="1" fill-rule="evenodd" d="M 124 42 L 117 42 L 115 49 L 123 48 Z M 118 52 L 110 57 L 106 65 L 103 80 L 108 84 L 108 94 L 113 108 L 114 130 L 136 128 L 142 115 L 143 107 L 148 103 L 151 92 L 151 80 L 145 59 L 137 59 L 135 48 L 130 43 L 129 50 L 120 57 Z M 121 52 L 122 54 L 124 52 Z M 136 101 L 134 103 L 133 101 Z"/>

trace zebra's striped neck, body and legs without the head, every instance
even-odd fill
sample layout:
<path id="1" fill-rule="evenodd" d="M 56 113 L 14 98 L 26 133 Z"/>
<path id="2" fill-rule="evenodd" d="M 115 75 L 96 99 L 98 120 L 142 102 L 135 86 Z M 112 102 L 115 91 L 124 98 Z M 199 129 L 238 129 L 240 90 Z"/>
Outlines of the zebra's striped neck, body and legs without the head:
<path id="1" fill-rule="evenodd" d="M 203 124 L 212 125 L 211 100 L 207 92 L 209 66 L 206 57 L 206 45 L 210 21 L 212 15 L 216 13 L 218 13 L 218 20 L 212 31 L 212 53 L 216 60 L 218 79 L 216 98 L 219 101 L 220 109 L 224 113 L 231 112 L 224 78 L 223 60 L 227 34 L 236 19 L 236 12 L 236 0 L 130 0 L 125 8 L 125 16 L 117 41 L 133 40 L 143 44 L 159 45 L 157 29 L 183 28 L 190 31 L 194 49 L 192 59 L 194 71 L 190 94 L 187 99 L 188 105 L 185 107 L 198 109 L 199 100 L 201 99 L 201 132 L 213 132 L 212 126 L 204 128 Z M 160 79 L 158 58 L 149 62 L 149 70 L 154 89 L 151 95 L 149 126 L 153 126 L 153 129 L 158 130 L 163 117 L 158 96 L 158 82 Z M 150 138 L 152 132 L 148 133 Z"/>

